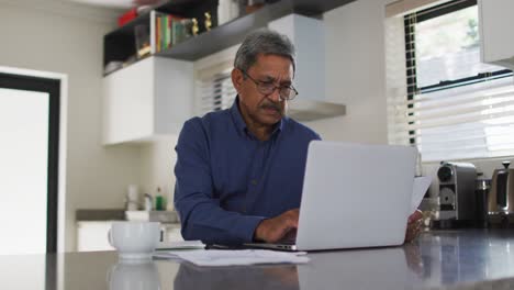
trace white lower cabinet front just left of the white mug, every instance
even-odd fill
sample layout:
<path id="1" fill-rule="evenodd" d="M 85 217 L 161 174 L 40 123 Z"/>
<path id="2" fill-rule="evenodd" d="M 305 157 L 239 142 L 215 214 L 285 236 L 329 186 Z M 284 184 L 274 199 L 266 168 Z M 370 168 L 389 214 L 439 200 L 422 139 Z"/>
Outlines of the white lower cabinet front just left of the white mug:
<path id="1" fill-rule="evenodd" d="M 77 250 L 113 250 L 108 241 L 111 223 L 111 221 L 77 222 Z"/>

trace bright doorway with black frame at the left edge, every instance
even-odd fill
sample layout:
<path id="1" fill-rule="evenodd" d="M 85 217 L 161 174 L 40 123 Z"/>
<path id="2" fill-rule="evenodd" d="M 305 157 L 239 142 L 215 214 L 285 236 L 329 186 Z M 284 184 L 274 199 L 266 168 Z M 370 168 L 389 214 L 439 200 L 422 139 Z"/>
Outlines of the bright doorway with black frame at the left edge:
<path id="1" fill-rule="evenodd" d="M 0 74 L 0 255 L 57 250 L 60 80 Z"/>

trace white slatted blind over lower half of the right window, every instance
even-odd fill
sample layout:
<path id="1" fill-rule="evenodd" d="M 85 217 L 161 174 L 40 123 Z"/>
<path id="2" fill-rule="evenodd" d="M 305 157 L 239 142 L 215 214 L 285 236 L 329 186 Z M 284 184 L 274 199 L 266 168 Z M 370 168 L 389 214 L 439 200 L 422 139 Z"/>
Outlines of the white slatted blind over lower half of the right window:
<path id="1" fill-rule="evenodd" d="M 414 144 L 423 160 L 514 155 L 514 86 L 512 79 L 391 102 L 393 144 Z M 480 83 L 482 85 L 482 83 Z"/>

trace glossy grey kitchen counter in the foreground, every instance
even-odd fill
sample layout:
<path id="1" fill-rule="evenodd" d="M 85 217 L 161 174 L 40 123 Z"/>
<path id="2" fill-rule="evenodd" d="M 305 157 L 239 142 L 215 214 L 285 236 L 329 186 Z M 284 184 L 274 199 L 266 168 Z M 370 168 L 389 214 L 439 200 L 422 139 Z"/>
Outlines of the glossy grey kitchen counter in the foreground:
<path id="1" fill-rule="evenodd" d="M 305 265 L 204 268 L 115 252 L 0 256 L 2 289 L 513 289 L 514 231 L 424 233 L 401 247 L 310 253 Z M 133 288 L 131 287 L 133 286 Z"/>

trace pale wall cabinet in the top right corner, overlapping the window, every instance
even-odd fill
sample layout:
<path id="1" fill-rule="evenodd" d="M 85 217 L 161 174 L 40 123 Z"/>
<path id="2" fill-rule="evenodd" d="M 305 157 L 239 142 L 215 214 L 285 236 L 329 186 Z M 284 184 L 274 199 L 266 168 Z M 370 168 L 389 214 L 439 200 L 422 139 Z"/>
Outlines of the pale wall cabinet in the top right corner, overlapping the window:
<path id="1" fill-rule="evenodd" d="M 514 68 L 514 1 L 479 0 L 480 45 L 483 63 Z"/>

